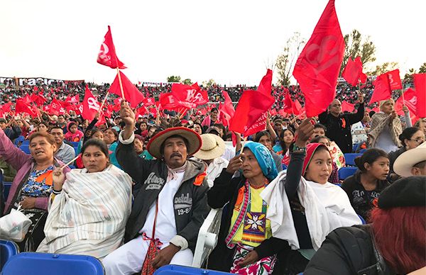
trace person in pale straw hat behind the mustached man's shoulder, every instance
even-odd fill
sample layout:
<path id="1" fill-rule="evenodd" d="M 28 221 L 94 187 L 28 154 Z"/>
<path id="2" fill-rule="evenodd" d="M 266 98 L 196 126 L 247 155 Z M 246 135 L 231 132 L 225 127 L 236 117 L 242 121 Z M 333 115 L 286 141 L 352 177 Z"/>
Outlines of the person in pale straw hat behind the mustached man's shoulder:
<path id="1" fill-rule="evenodd" d="M 202 159 L 207 165 L 206 179 L 209 188 L 212 188 L 214 179 L 216 179 L 222 169 L 228 167 L 229 161 L 221 157 L 225 152 L 225 142 L 219 135 L 204 134 L 201 135 L 202 146 L 194 157 Z"/>

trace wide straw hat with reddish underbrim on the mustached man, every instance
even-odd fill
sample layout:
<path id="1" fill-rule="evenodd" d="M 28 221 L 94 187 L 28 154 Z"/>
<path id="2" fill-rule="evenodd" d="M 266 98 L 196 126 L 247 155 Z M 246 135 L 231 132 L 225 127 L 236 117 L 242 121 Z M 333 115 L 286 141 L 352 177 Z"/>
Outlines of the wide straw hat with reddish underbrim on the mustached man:
<path id="1" fill-rule="evenodd" d="M 188 156 L 192 156 L 200 150 L 201 147 L 201 137 L 193 130 L 186 127 L 173 127 L 162 130 L 157 135 L 154 135 L 146 145 L 146 150 L 155 158 L 161 159 L 163 156 L 160 153 L 160 147 L 163 145 L 163 142 L 170 138 L 172 135 L 180 135 L 182 138 L 185 138 L 189 142 Z"/>

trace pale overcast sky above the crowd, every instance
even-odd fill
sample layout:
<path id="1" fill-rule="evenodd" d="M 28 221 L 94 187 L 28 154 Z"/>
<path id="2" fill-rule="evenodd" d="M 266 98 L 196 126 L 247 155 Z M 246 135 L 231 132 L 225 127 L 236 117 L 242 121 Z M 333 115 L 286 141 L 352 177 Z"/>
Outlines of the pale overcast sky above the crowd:
<path id="1" fill-rule="evenodd" d="M 1 0 L 0 77 L 111 83 L 116 71 L 96 62 L 110 25 L 134 83 L 258 84 L 294 32 L 310 37 L 327 2 Z M 336 9 L 342 33 L 371 36 L 378 64 L 399 62 L 403 74 L 426 62 L 425 1 L 337 0 Z"/>

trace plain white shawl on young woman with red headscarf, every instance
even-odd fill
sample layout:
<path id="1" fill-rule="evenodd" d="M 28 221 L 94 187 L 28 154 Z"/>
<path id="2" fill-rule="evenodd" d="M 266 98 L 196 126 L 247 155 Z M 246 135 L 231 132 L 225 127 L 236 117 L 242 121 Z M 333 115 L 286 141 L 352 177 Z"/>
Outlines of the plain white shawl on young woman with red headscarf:
<path id="1" fill-rule="evenodd" d="M 300 249 L 290 202 L 284 188 L 286 173 L 286 170 L 280 172 L 262 191 L 261 197 L 268 203 L 266 218 L 271 220 L 273 237 L 287 240 L 292 249 Z M 297 196 L 305 208 L 307 227 L 315 250 L 321 247 L 332 230 L 361 224 L 348 196 L 339 186 L 329 182 L 317 184 L 302 177 L 297 187 Z"/>

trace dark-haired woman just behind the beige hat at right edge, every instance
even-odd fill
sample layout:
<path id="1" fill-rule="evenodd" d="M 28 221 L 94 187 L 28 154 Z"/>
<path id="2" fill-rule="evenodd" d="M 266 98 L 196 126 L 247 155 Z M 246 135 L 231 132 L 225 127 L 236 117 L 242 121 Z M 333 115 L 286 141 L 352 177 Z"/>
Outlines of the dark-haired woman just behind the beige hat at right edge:
<path id="1" fill-rule="evenodd" d="M 399 140 L 403 145 L 398 150 L 389 153 L 389 161 L 391 162 L 391 172 L 389 173 L 389 180 L 395 181 L 399 179 L 400 176 L 393 172 L 393 163 L 395 160 L 403 153 L 408 150 L 414 149 L 423 142 L 425 142 L 425 133 L 423 133 L 420 128 L 417 127 L 408 127 L 403 130 L 403 133 L 399 135 Z"/>

